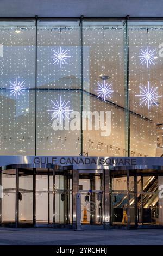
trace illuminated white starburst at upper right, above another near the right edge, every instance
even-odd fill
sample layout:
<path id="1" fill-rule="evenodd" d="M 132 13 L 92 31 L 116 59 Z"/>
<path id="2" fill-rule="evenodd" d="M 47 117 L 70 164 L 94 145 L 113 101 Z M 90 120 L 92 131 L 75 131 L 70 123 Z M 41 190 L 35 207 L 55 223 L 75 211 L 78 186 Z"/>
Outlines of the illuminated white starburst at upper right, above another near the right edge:
<path id="1" fill-rule="evenodd" d="M 147 64 L 147 68 L 149 65 L 151 65 L 152 63 L 155 65 L 155 63 L 153 62 L 153 60 L 155 59 L 155 54 L 154 54 L 154 51 L 155 50 L 149 50 L 149 48 L 147 47 L 147 49 L 145 51 L 143 51 L 142 49 L 141 50 L 141 55 L 139 55 L 140 57 L 140 61 L 141 61 L 141 64 Z"/>

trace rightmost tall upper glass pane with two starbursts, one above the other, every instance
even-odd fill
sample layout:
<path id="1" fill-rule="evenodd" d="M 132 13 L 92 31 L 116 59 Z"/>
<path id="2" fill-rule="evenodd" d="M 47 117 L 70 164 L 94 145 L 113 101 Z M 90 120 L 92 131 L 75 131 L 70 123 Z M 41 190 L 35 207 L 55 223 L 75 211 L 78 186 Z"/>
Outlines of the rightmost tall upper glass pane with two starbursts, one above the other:
<path id="1" fill-rule="evenodd" d="M 131 156 L 162 156 L 162 22 L 129 22 Z"/>

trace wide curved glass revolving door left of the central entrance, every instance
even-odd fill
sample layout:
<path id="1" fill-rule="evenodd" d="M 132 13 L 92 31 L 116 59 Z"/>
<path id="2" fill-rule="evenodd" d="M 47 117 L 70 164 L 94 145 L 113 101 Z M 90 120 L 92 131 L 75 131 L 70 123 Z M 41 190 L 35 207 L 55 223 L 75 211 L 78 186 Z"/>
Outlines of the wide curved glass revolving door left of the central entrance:
<path id="1" fill-rule="evenodd" d="M 3 227 L 71 227 L 70 168 L 4 168 L 0 173 Z"/>

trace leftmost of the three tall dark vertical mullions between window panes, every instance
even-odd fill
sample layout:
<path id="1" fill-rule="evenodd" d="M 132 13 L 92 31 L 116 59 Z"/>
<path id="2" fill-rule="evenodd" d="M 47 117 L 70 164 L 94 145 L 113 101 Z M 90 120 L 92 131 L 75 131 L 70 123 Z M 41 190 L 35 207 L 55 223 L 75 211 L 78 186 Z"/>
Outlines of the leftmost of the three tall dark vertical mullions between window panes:
<path id="1" fill-rule="evenodd" d="M 35 47 L 35 156 L 37 155 L 37 18 L 35 16 L 36 26 L 36 47 Z"/>

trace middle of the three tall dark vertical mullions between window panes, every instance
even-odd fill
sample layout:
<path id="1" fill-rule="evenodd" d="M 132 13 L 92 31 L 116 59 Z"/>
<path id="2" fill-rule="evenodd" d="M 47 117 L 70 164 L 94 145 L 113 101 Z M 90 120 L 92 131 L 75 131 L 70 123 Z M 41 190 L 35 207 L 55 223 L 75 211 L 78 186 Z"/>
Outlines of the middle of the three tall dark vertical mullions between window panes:
<path id="1" fill-rule="evenodd" d="M 80 17 L 80 136 L 81 152 L 83 156 L 83 16 Z"/>

